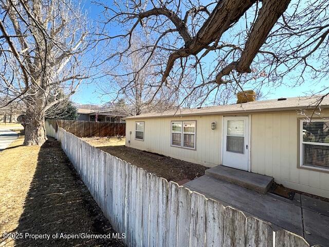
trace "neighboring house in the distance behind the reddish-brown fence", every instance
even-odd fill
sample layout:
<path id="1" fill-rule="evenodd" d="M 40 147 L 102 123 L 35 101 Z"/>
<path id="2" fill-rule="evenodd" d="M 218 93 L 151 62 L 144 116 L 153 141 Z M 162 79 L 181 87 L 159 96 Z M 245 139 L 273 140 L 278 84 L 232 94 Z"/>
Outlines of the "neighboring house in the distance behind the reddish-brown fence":
<path id="1" fill-rule="evenodd" d="M 78 109 L 79 119 L 84 121 L 95 121 L 97 116 L 98 122 L 125 122 L 122 118 L 126 117 L 126 114 L 120 113 L 116 110 L 108 111 L 96 111 Z"/>

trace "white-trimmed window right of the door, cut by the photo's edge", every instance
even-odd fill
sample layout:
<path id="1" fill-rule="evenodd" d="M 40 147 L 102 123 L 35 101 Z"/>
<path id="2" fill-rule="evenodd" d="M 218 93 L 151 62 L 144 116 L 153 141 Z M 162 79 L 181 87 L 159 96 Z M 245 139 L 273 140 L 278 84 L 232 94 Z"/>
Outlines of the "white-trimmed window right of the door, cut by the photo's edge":
<path id="1" fill-rule="evenodd" d="M 300 166 L 329 170 L 329 120 L 301 120 Z"/>

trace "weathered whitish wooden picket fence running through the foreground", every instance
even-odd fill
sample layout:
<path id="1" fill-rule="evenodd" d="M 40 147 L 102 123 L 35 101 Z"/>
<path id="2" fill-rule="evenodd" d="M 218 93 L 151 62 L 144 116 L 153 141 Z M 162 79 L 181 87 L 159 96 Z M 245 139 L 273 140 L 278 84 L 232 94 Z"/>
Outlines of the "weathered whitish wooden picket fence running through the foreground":
<path id="1" fill-rule="evenodd" d="M 127 246 L 309 246 L 296 234 L 273 232 L 269 223 L 126 163 L 62 128 L 54 137 L 114 229 L 126 234 Z"/>

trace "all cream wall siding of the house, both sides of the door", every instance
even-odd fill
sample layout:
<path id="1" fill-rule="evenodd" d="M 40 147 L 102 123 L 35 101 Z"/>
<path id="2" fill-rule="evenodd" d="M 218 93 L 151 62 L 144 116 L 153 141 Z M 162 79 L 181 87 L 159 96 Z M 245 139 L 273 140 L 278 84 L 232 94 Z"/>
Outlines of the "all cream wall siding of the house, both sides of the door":
<path id="1" fill-rule="evenodd" d="M 329 109 L 321 114 L 329 116 Z M 286 187 L 329 198 L 329 173 L 298 167 L 300 117 L 296 111 L 251 114 L 250 169 Z M 196 150 L 170 146 L 174 120 L 196 120 Z M 143 141 L 135 140 L 136 121 L 145 122 Z M 222 161 L 222 116 L 126 119 L 126 146 L 214 167 Z"/>

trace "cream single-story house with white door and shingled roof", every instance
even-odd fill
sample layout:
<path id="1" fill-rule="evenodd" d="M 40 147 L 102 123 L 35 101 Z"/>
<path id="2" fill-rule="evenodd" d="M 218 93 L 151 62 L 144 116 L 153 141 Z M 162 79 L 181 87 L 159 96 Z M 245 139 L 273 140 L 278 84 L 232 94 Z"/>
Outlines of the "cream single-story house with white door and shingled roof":
<path id="1" fill-rule="evenodd" d="M 281 98 L 125 118 L 126 146 L 273 177 L 329 198 L 329 97 Z M 318 111 L 318 110 L 317 110 Z"/>

